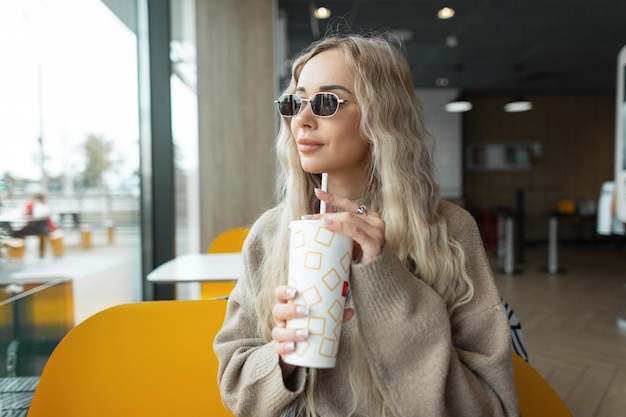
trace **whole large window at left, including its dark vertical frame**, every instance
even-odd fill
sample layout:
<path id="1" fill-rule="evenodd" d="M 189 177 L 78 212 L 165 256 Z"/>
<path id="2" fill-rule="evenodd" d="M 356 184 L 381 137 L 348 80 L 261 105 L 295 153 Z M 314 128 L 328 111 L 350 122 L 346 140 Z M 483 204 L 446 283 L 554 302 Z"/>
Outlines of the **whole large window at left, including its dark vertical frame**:
<path id="1" fill-rule="evenodd" d="M 34 387 L 91 315 L 197 291 L 145 280 L 201 249 L 194 21 L 194 0 L 0 3 L 0 378 Z"/>

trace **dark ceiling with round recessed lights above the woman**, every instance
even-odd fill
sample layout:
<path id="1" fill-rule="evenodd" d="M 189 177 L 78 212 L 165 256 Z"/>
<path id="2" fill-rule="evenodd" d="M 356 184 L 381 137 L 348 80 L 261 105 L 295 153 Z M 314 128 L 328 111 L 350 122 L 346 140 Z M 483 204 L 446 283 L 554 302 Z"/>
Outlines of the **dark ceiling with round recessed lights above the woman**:
<path id="1" fill-rule="evenodd" d="M 312 19 L 313 6 L 332 17 Z M 452 19 L 437 18 L 443 6 L 455 9 Z M 614 94 L 617 54 L 626 45 L 626 0 L 279 0 L 278 7 L 288 57 L 329 27 L 408 33 L 417 88 Z M 446 87 L 437 85 L 441 78 Z"/>

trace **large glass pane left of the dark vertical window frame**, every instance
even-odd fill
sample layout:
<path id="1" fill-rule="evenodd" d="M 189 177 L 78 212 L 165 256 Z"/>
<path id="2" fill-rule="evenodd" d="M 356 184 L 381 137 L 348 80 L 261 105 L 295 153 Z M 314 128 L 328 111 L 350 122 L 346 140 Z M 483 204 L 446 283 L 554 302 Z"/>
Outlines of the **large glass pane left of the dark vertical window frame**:
<path id="1" fill-rule="evenodd" d="M 71 288 L 2 305 L 0 369 L 15 305 L 31 315 L 20 334 L 45 341 L 12 376 L 38 375 L 61 333 L 87 317 L 141 300 L 136 2 L 106 3 L 0 3 L 0 288 Z M 69 327 L 46 318 L 50 300 Z"/>

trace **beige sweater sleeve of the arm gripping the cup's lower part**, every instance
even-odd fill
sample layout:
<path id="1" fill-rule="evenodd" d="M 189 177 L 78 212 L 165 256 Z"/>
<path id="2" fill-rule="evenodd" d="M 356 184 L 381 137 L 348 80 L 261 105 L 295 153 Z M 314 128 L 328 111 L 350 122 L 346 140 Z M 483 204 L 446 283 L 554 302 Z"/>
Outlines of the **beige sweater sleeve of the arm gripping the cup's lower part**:
<path id="1" fill-rule="evenodd" d="M 224 323 L 213 343 L 222 400 L 239 417 L 280 415 L 303 391 L 306 381 L 306 370 L 297 368 L 293 386 L 285 386 L 274 343 L 264 342 L 257 331 L 251 281 L 262 256 L 258 235 L 253 227 L 244 247 L 245 273 L 229 296 Z"/>

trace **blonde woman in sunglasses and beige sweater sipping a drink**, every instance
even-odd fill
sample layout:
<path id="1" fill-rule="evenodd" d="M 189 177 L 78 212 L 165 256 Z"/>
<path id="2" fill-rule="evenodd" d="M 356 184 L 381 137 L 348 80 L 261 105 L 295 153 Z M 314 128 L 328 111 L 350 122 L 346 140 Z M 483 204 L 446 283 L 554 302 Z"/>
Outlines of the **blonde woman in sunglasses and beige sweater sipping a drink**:
<path id="1" fill-rule="evenodd" d="M 441 201 L 404 56 L 382 37 L 331 36 L 294 62 L 276 148 L 280 203 L 253 225 L 246 273 L 214 348 L 238 416 L 518 415 L 508 321 L 473 218 Z M 320 187 L 328 173 L 328 192 Z M 311 215 L 319 202 L 329 208 Z M 366 209 L 359 209 L 361 206 Z M 308 215 L 307 215 L 308 214 Z M 354 240 L 333 369 L 282 361 L 306 331 L 289 302 L 288 224 Z"/>

